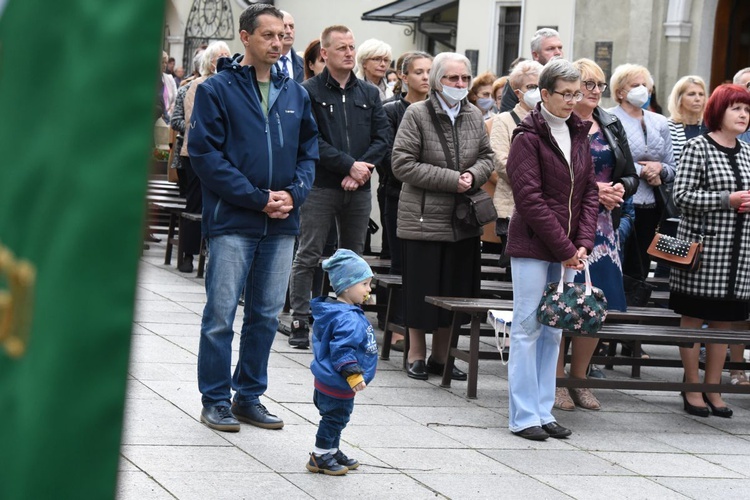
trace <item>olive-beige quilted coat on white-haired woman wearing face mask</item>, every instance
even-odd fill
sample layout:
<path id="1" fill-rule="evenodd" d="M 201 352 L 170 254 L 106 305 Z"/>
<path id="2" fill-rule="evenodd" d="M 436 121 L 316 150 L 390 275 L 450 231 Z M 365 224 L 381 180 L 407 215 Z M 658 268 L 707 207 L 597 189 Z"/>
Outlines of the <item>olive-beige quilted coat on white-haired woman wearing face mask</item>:
<path id="1" fill-rule="evenodd" d="M 437 112 L 453 156 L 453 169 L 446 162 L 427 106 L 433 106 Z M 434 92 L 429 100 L 409 106 L 396 134 L 391 158 L 393 174 L 403 182 L 398 237 L 451 242 L 466 237 L 457 234 L 453 222 L 458 177 L 462 172 L 470 172 L 474 177 L 473 187 L 481 186 L 492 173 L 492 156 L 482 112 L 468 101 L 461 103 L 455 125 Z M 474 236 L 480 233 L 477 229 Z"/>

